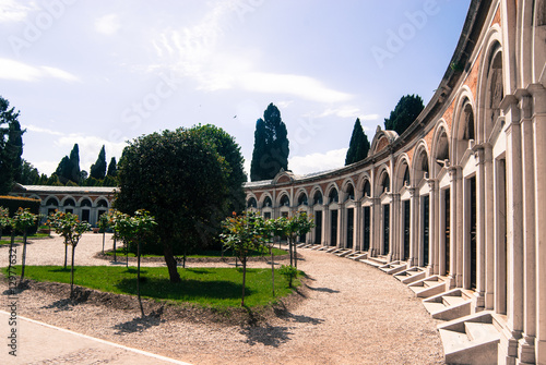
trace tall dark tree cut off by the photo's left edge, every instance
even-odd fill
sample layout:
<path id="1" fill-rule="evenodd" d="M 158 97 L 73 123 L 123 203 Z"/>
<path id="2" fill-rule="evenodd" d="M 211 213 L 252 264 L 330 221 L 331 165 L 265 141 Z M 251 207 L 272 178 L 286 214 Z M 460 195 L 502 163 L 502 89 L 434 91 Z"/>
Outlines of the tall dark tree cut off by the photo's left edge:
<path id="1" fill-rule="evenodd" d="M 21 177 L 25 131 L 21 130 L 17 118 L 19 111 L 10 109 L 10 102 L 0 96 L 0 195 L 8 194 Z"/>

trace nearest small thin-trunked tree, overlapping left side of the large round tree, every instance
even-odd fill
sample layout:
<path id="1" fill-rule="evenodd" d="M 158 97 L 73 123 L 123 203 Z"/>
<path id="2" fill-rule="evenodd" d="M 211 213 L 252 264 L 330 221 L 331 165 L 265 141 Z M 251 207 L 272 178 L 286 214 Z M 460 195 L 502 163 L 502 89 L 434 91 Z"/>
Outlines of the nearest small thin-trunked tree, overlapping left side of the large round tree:
<path id="1" fill-rule="evenodd" d="M 139 297 L 140 313 L 144 317 L 144 308 L 142 307 L 142 300 L 140 297 L 140 255 L 141 255 L 141 241 L 152 234 L 157 223 L 150 212 L 143 209 L 136 210 L 133 217 L 128 215 L 120 216 L 116 221 L 115 229 L 123 241 L 136 242 L 136 295 Z"/>

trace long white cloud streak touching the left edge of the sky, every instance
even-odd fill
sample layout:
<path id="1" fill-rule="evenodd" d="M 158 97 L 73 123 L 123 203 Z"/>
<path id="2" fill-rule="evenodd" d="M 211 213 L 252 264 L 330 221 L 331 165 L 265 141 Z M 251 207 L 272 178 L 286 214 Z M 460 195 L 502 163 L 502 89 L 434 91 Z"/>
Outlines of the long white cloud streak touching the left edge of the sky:
<path id="1" fill-rule="evenodd" d="M 0 78 L 36 82 L 49 77 L 66 82 L 80 81 L 78 76 L 57 68 L 32 66 L 23 62 L 0 58 Z"/>

